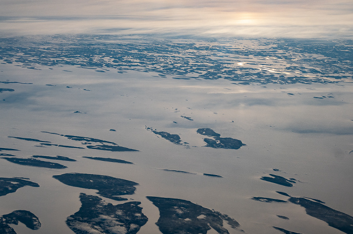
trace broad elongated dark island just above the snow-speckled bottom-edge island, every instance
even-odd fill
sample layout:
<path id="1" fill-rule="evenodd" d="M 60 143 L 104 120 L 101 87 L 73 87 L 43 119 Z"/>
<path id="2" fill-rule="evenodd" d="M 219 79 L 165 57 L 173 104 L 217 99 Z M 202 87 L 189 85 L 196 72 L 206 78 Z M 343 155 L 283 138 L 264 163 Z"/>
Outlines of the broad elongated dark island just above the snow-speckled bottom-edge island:
<path id="1" fill-rule="evenodd" d="M 134 186 L 139 185 L 129 180 L 94 174 L 66 173 L 53 178 L 69 186 L 98 190 L 97 194 L 116 201 L 128 200 L 119 196 L 134 194 Z"/>

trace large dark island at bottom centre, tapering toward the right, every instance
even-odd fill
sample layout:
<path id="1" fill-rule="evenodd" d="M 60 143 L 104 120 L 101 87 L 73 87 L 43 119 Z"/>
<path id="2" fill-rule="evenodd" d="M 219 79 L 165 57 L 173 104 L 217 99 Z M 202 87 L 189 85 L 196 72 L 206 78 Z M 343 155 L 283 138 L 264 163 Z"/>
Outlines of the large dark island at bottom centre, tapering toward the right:
<path id="1" fill-rule="evenodd" d="M 208 230 L 215 229 L 218 233 L 229 234 L 223 227 L 223 220 L 234 229 L 240 224 L 226 214 L 204 208 L 187 200 L 147 197 L 158 207 L 160 217 L 156 222 L 163 234 L 206 234 Z"/>

